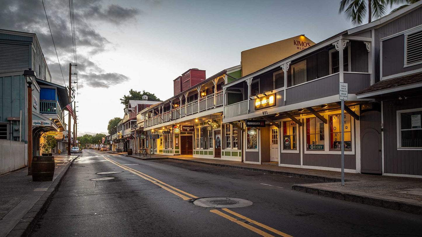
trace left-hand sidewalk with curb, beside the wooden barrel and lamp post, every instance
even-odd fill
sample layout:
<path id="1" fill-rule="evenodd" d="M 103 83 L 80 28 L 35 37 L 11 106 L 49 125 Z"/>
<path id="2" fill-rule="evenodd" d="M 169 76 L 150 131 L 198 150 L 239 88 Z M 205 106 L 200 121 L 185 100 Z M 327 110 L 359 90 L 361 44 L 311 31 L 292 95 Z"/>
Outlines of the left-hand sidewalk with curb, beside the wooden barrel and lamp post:
<path id="1" fill-rule="evenodd" d="M 33 182 L 28 168 L 0 176 L 0 237 L 27 236 L 78 155 L 53 154 L 53 181 Z"/>

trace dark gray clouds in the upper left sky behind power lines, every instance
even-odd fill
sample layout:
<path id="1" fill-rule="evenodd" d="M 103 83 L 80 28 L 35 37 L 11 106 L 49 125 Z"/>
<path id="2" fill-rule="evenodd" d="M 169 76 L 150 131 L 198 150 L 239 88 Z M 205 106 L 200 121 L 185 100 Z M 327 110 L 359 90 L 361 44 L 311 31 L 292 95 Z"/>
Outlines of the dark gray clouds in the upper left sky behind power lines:
<path id="1" fill-rule="evenodd" d="M 68 62 L 73 62 L 73 41 L 69 5 L 64 3 L 66 2 L 62 0 L 44 0 L 63 76 L 68 83 Z M 62 72 L 57 62 L 42 2 L 39 0 L 0 0 L 0 6 L 2 6 L 0 29 L 37 34 L 53 82 L 63 85 Z M 135 21 L 142 11 L 137 8 L 125 8 L 118 4 L 107 5 L 105 0 L 75 0 L 73 9 L 78 52 L 78 80 L 80 80 L 78 87 L 87 85 L 108 88 L 129 80 L 125 75 L 106 72 L 91 60 L 92 56 L 107 51 L 111 45 L 111 42 L 101 35 L 95 26 L 98 23 L 126 24 Z"/>

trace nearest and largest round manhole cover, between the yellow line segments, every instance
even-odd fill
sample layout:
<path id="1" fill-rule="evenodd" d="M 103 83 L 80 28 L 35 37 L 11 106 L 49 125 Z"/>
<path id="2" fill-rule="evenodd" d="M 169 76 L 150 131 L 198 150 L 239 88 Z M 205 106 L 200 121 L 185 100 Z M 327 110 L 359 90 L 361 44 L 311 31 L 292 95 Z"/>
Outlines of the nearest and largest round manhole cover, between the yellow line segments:
<path id="1" fill-rule="evenodd" d="M 193 204 L 205 208 L 243 208 L 253 202 L 235 197 L 204 197 L 195 200 Z"/>

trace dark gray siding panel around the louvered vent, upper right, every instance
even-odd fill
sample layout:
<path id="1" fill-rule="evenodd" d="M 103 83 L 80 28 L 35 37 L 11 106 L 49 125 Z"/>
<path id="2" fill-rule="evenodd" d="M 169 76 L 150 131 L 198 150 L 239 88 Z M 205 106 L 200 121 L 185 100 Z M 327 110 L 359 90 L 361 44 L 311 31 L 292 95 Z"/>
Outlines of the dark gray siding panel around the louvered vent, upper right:
<path id="1" fill-rule="evenodd" d="M 422 67 L 417 64 L 404 66 L 404 35 L 384 40 L 382 42 L 382 76 L 389 76 L 400 72 L 408 72 Z"/>

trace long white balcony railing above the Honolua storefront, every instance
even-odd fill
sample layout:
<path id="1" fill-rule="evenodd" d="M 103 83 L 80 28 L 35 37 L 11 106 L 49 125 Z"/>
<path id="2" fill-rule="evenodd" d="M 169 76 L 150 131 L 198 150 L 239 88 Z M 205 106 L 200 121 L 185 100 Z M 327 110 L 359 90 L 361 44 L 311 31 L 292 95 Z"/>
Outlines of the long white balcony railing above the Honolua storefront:
<path id="1" fill-rule="evenodd" d="M 214 94 L 192 101 L 188 104 L 176 107 L 171 111 L 164 112 L 160 115 L 154 115 L 145 120 L 145 128 L 151 127 L 162 122 L 168 122 L 187 115 L 193 115 L 198 112 L 203 112 L 223 105 L 223 91 L 217 91 Z"/>

